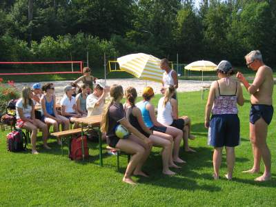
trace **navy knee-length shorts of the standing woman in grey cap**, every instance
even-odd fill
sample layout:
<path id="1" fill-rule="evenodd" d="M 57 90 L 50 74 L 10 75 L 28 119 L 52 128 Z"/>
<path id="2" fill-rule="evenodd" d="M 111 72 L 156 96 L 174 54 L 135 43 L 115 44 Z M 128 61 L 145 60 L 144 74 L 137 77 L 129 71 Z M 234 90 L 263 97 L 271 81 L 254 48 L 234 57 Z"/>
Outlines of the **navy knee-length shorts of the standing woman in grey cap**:
<path id="1" fill-rule="evenodd" d="M 208 131 L 208 145 L 235 147 L 240 142 L 237 115 L 213 115 Z"/>

